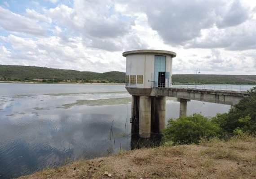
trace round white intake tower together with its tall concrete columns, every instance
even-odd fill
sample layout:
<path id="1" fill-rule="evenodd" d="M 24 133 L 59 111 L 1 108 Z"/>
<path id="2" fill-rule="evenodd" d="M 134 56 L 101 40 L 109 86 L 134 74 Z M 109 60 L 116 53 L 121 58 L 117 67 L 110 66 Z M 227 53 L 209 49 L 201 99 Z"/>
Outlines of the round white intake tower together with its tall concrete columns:
<path id="1" fill-rule="evenodd" d="M 168 88 L 172 82 L 172 58 L 162 50 L 125 51 L 126 90 L 132 95 L 132 134 L 149 138 L 165 128 L 165 97 L 152 89 Z"/>

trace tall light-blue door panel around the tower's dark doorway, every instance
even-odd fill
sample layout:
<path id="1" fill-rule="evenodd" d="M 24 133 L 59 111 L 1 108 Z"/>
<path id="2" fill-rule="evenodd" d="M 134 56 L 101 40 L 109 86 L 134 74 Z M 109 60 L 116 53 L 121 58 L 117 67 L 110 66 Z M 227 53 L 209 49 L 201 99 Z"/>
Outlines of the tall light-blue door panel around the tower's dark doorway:
<path id="1" fill-rule="evenodd" d="M 158 87 L 159 72 L 165 72 L 165 69 L 166 56 L 154 55 L 154 87 Z"/>

